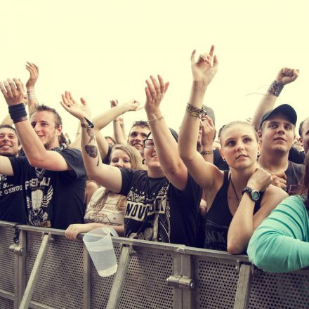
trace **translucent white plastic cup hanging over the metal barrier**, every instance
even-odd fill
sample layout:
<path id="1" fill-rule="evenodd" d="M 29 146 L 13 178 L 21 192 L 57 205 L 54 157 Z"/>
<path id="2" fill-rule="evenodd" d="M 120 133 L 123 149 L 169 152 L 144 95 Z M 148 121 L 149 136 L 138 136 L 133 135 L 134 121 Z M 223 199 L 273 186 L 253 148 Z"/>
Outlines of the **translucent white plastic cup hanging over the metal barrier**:
<path id="1" fill-rule="evenodd" d="M 84 244 L 100 277 L 114 275 L 118 267 L 110 234 L 118 236 L 113 228 L 96 228 L 83 237 Z"/>

